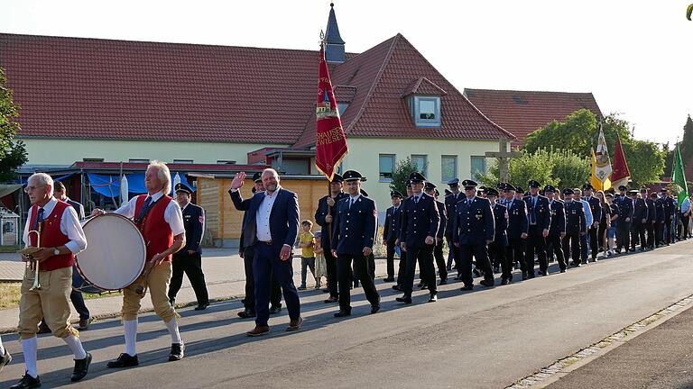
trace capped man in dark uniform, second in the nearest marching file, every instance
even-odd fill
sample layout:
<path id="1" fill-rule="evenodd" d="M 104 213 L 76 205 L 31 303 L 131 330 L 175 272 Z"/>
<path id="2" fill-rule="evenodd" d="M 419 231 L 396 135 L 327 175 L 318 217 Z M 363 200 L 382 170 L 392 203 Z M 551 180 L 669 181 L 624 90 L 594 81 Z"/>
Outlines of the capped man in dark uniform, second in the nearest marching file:
<path id="1" fill-rule="evenodd" d="M 426 178 L 414 172 L 409 179 L 412 194 L 403 204 L 402 231 L 400 231 L 400 244 L 402 250 L 407 252 L 406 278 L 402 284 L 404 294 L 396 300 L 400 303 L 411 303 L 418 260 L 421 281 L 429 285 L 429 302 L 434 303 L 438 301 L 438 288 L 436 269 L 433 266 L 433 248 L 438 234 L 440 214 L 435 199 L 423 193 Z"/>

